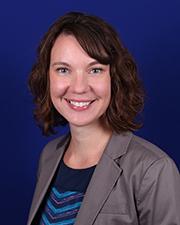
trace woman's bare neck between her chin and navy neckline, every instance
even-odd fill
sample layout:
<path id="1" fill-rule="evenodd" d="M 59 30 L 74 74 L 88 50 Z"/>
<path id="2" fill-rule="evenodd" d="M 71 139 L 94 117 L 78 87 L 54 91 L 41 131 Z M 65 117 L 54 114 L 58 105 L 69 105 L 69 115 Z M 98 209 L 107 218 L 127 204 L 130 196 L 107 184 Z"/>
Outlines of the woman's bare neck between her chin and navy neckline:
<path id="1" fill-rule="evenodd" d="M 71 167 L 83 168 L 97 164 L 112 132 L 100 124 L 75 127 L 70 126 L 71 141 L 64 161 Z"/>

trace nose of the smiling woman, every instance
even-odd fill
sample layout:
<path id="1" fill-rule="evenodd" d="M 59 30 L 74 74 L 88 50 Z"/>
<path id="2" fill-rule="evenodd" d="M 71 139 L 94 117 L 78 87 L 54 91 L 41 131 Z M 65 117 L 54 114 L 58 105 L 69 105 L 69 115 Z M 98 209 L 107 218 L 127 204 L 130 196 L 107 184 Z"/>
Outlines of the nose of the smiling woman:
<path id="1" fill-rule="evenodd" d="M 89 89 L 87 74 L 83 72 L 78 72 L 74 74 L 71 80 L 71 90 L 74 93 L 82 94 L 87 92 Z"/>

